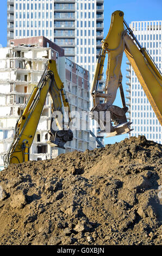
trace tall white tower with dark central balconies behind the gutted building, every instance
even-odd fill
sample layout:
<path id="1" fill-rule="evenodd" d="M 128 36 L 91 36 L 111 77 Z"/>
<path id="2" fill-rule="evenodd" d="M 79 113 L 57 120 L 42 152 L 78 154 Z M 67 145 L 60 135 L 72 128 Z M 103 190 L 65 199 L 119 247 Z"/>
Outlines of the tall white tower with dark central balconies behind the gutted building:
<path id="1" fill-rule="evenodd" d="M 8 0 L 7 4 L 8 41 L 46 36 L 64 48 L 68 59 L 89 70 L 92 83 L 103 39 L 103 0 Z M 103 81 L 98 89 L 103 89 Z M 94 120 L 91 130 L 97 135 Z M 104 144 L 102 136 L 99 140 Z"/>

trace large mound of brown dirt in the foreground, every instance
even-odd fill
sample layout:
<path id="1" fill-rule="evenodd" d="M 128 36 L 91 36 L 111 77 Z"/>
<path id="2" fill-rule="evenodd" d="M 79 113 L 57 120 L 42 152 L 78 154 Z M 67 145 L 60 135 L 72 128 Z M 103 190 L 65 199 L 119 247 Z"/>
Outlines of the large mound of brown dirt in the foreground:
<path id="1" fill-rule="evenodd" d="M 160 245 L 160 144 L 144 136 L 0 173 L 1 245 Z"/>

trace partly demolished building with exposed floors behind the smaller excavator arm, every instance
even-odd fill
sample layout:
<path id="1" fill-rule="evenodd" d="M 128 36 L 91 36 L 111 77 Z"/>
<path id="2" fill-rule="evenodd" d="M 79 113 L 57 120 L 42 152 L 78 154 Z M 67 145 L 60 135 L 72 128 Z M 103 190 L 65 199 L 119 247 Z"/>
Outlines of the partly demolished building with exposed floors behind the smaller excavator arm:
<path id="1" fill-rule="evenodd" d="M 57 62 L 71 111 L 89 111 L 90 99 L 89 72 L 67 59 L 64 49 L 44 36 L 10 40 L 10 46 L 1 48 L 0 53 L 0 166 L 3 168 L 3 155 L 13 140 L 16 121 L 37 86 L 48 59 Z M 65 150 L 51 148 L 47 144 L 51 123 L 51 100 L 48 95 L 30 148 L 30 160 L 51 159 L 60 153 L 94 148 L 93 140 L 90 145 L 89 120 L 84 121 L 86 129 L 74 130 L 73 141 L 66 143 Z"/>

